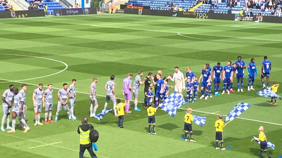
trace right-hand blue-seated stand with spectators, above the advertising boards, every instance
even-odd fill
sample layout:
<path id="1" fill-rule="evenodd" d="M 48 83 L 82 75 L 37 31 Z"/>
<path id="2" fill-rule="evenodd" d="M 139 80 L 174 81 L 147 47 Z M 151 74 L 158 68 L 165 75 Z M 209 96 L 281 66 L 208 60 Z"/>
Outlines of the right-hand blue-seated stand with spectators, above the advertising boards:
<path id="1" fill-rule="evenodd" d="M 196 1 L 196 0 L 175 0 L 175 1 L 168 1 L 168 0 L 130 0 L 125 3 L 125 5 L 133 4 L 137 6 L 150 6 L 151 9 L 155 10 L 170 10 L 171 6 L 177 6 L 181 4 L 181 8 L 184 11 L 194 11 L 194 12 L 214 12 L 214 13 L 225 13 L 227 14 L 228 11 L 243 11 L 246 13 L 246 16 L 250 14 L 257 15 L 261 14 L 263 16 L 271 16 L 275 12 L 279 12 L 282 10 L 281 4 L 282 0 L 272 3 L 269 5 L 269 1 L 264 0 L 255 0 L 252 6 L 249 6 L 250 0 L 243 0 L 243 1 L 235 1 L 235 0 L 227 0 L 225 2 L 217 3 L 217 0 L 209 0 L 209 1 Z M 205 3 L 206 2 L 206 3 Z M 239 2 L 239 3 L 238 3 Z M 241 3 L 240 3 L 241 2 Z M 237 4 L 238 3 L 238 4 Z"/>

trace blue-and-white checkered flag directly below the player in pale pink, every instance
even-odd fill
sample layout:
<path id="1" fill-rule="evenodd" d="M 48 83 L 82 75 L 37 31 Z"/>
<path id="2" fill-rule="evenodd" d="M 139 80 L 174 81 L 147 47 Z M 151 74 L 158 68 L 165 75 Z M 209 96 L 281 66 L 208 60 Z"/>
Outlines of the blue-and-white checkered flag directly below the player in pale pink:
<path id="1" fill-rule="evenodd" d="M 176 110 L 185 102 L 185 100 L 174 91 L 167 99 L 165 99 L 159 106 L 166 111 L 170 116 L 174 117 Z"/>

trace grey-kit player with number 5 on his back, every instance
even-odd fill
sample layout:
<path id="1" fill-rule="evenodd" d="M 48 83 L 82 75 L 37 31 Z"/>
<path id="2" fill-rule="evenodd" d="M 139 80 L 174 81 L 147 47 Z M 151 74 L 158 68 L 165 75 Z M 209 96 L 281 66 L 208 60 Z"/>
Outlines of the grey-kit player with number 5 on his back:
<path id="1" fill-rule="evenodd" d="M 108 102 L 110 102 L 110 99 L 112 100 L 114 104 L 114 112 L 115 112 L 115 117 L 117 117 L 117 103 L 115 102 L 115 75 L 111 75 L 111 80 L 109 80 L 106 85 L 105 85 L 105 91 L 106 91 L 106 102 L 104 105 L 104 110 L 107 109 Z"/>

